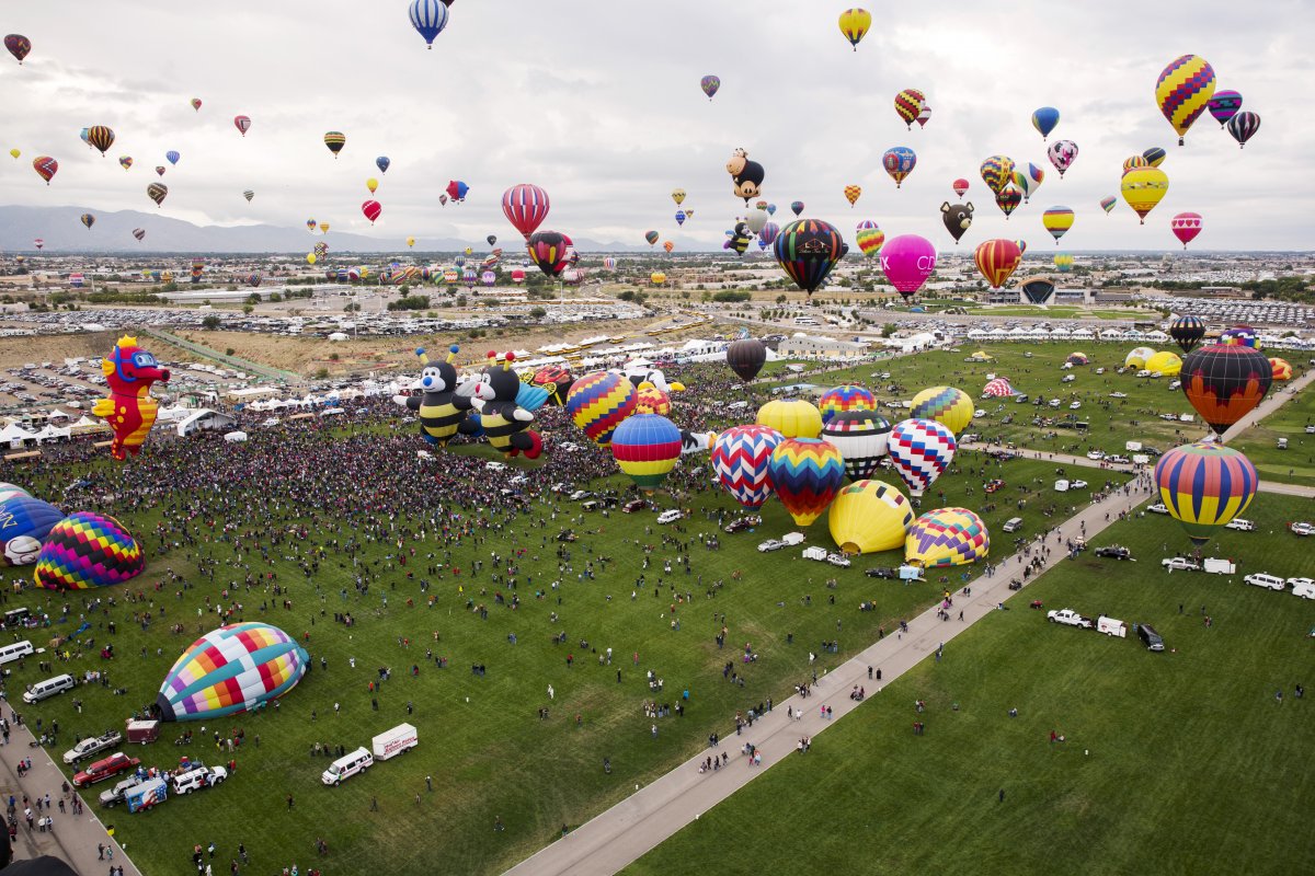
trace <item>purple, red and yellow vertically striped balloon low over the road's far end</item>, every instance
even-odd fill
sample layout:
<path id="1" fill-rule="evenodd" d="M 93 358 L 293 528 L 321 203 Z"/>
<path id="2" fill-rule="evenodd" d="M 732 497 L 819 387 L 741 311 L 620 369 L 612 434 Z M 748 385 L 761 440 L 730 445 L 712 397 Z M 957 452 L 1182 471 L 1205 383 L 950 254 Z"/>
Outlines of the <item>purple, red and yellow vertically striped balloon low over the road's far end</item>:
<path id="1" fill-rule="evenodd" d="M 1260 489 L 1256 466 L 1220 444 L 1176 447 L 1155 466 L 1155 483 L 1169 516 L 1198 548 L 1247 510 Z"/>

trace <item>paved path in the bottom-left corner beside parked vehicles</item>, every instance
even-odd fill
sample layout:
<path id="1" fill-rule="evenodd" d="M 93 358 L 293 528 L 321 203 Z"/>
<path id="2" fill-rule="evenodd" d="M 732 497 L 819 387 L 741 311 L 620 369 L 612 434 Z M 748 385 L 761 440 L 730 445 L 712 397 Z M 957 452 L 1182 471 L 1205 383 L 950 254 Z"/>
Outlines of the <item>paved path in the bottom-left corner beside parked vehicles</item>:
<path id="1" fill-rule="evenodd" d="M 96 809 L 99 808 L 96 800 L 100 792 L 109 785 L 92 785 L 83 792 L 72 789 L 68 796 L 63 797 L 67 812 L 59 812 L 58 801 L 62 796 L 60 788 L 66 781 L 64 775 L 55 766 L 54 760 L 50 759 L 50 755 L 46 754 L 46 750 L 33 746 L 33 742 L 36 739 L 32 732 L 28 730 L 28 725 L 18 725 L 11 721 L 9 745 L 0 746 L 0 796 L 3 796 L 5 804 L 8 804 L 11 795 L 18 801 L 18 839 L 13 844 L 14 860 L 51 855 L 67 862 L 80 876 L 108 873 L 110 864 L 122 867 L 124 876 L 142 876 L 137 865 L 129 860 L 128 855 L 107 833 L 105 825 L 96 816 Z M 20 779 L 17 767 L 18 762 L 25 758 L 32 758 L 32 770 Z M 109 784 L 112 785 L 113 783 Z M 72 814 L 71 808 L 67 805 L 72 801 L 74 793 L 79 793 L 83 801 L 83 813 L 80 816 Z M 50 830 L 42 833 L 36 827 L 32 830 L 28 829 L 28 822 L 22 817 L 24 795 L 33 801 L 33 816 L 37 814 L 37 797 L 50 795 L 50 802 L 55 806 L 55 810 L 53 813 L 41 812 L 42 816 L 50 814 L 53 820 Z M 121 806 L 105 812 L 113 813 L 116 817 L 128 817 L 128 810 Z M 100 844 L 113 850 L 113 859 L 97 858 L 97 846 Z"/>

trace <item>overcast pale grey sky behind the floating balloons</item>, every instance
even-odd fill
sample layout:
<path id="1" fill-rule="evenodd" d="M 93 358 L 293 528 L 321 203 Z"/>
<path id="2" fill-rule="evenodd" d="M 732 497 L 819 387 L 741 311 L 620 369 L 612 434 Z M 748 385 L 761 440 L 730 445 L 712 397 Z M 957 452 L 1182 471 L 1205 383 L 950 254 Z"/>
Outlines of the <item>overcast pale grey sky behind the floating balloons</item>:
<path id="1" fill-rule="evenodd" d="M 1194 248 L 1311 248 L 1315 4 L 869 0 L 876 21 L 853 53 L 836 26 L 849 3 L 455 0 L 426 51 L 406 0 L 9 0 L 0 29 L 28 35 L 33 51 L 22 67 L 0 56 L 0 146 L 22 150 L 17 162 L 0 154 L 0 202 L 155 210 L 153 168 L 178 150 L 162 213 L 203 225 L 314 217 L 398 244 L 512 242 L 500 197 L 526 181 L 552 198 L 544 229 L 625 243 L 656 229 L 682 248 L 710 247 L 744 210 L 725 171 L 742 146 L 767 168 L 777 222 L 801 200 L 851 239 L 871 218 L 952 251 L 939 208 L 963 176 L 977 208 L 964 250 L 1010 236 L 1053 251 L 1040 214 L 1057 205 L 1077 213 L 1065 250 L 1176 248 L 1168 226 L 1182 210 L 1205 215 Z M 1186 53 L 1262 117 L 1245 150 L 1208 116 L 1177 146 L 1153 91 Z M 711 102 L 704 74 L 722 80 Z M 910 87 L 932 106 L 922 130 L 893 109 Z M 1081 150 L 1063 180 L 1030 122 L 1043 105 L 1063 114 L 1051 139 Z M 239 113 L 252 120 L 245 139 Z M 80 142 L 88 125 L 116 131 L 105 158 Z M 347 135 L 337 160 L 327 130 Z M 918 154 L 899 190 L 881 168 L 892 146 Z M 1118 193 L 1123 159 L 1152 146 L 1169 151 L 1165 200 L 1144 227 L 1122 200 L 1105 215 L 1098 201 Z M 39 154 L 60 163 L 49 188 L 32 169 Z M 1009 222 L 978 176 L 993 154 L 1047 173 Z M 120 155 L 133 156 L 130 171 Z M 387 175 L 377 155 L 392 159 Z M 360 213 L 371 176 L 384 206 L 373 229 Z M 471 193 L 441 208 L 450 179 Z M 847 184 L 863 186 L 852 209 Z M 696 214 L 684 229 L 676 186 Z"/>

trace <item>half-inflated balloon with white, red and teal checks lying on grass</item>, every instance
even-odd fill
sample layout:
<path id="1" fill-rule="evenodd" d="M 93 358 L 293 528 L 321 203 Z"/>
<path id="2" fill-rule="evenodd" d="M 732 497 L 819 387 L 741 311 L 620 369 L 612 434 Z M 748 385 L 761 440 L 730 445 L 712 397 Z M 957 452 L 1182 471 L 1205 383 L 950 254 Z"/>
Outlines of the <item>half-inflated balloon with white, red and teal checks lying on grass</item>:
<path id="1" fill-rule="evenodd" d="M 277 626 L 229 624 L 192 642 L 155 697 L 164 721 L 210 721 L 276 700 L 306 674 L 310 657 Z"/>

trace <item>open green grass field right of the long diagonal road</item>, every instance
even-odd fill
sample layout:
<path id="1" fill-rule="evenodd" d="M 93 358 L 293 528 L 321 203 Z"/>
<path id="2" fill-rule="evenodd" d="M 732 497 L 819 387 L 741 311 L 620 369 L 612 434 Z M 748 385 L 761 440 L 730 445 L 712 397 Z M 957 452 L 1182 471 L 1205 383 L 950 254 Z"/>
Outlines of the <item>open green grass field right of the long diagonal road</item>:
<path id="1" fill-rule="evenodd" d="M 1240 579 L 1311 574 L 1282 528 L 1302 508 L 1258 496 L 1258 531 L 1216 538 L 1230 578 L 1164 573 L 1164 545 L 1185 545 L 1168 517 L 1111 527 L 1093 544 L 1139 562 L 1065 561 L 623 872 L 1306 871 L 1315 701 L 1293 691 L 1315 678 L 1315 602 Z M 1169 650 L 1047 624 L 1032 599 L 1149 623 Z"/>

